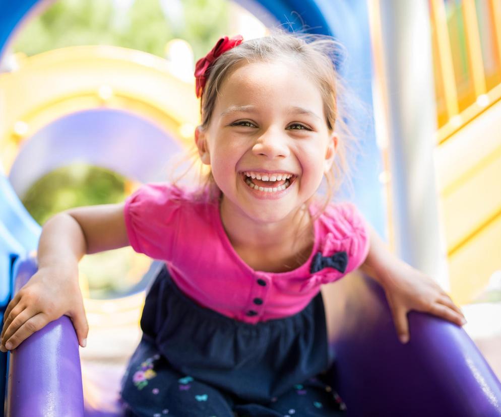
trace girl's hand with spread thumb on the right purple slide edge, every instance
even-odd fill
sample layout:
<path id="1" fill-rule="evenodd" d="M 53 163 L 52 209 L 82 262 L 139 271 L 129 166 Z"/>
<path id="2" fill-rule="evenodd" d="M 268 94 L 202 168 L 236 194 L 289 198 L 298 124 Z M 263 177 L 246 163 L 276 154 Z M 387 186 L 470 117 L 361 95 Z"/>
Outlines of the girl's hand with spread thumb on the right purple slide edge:
<path id="1" fill-rule="evenodd" d="M 407 313 L 411 310 L 433 314 L 459 326 L 466 323 L 462 311 L 435 281 L 403 261 L 388 273 L 383 287 L 402 343 L 409 341 Z"/>

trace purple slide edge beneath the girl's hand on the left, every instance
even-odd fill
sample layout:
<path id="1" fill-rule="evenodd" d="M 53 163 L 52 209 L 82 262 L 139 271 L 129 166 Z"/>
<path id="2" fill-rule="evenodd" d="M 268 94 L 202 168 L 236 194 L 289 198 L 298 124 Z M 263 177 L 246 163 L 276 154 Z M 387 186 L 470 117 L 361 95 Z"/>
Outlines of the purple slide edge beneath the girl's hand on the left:
<path id="1" fill-rule="evenodd" d="M 15 292 L 36 269 L 34 259 L 20 264 Z M 69 317 L 49 323 L 10 354 L 7 389 L 8 416 L 84 415 L 78 340 Z"/>

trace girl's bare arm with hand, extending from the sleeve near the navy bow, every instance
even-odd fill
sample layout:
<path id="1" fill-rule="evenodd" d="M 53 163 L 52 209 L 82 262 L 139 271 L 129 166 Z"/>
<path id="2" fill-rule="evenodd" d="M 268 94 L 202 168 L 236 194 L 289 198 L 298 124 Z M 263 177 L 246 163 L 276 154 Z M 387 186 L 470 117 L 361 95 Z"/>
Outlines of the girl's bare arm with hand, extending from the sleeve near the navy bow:
<path id="1" fill-rule="evenodd" d="M 402 343 L 409 341 L 407 313 L 410 310 L 430 313 L 460 326 L 466 323 L 459 307 L 435 281 L 397 258 L 370 225 L 368 228 L 369 252 L 360 269 L 385 290 Z"/>

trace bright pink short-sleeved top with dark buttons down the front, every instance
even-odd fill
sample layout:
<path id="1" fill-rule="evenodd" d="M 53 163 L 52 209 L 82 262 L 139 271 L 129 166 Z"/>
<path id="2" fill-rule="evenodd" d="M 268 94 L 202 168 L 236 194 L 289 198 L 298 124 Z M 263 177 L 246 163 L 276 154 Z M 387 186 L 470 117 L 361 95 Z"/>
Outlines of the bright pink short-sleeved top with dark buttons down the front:
<path id="1" fill-rule="evenodd" d="M 246 323 L 301 311 L 322 284 L 358 268 L 369 249 L 366 223 L 349 202 L 327 207 L 314 223 L 308 260 L 287 272 L 257 271 L 239 257 L 223 229 L 217 199 L 204 202 L 172 185 L 148 184 L 126 200 L 124 216 L 136 252 L 164 260 L 176 285 L 198 304 Z M 318 252 L 347 257 L 345 270 L 325 261 L 319 265 Z M 315 260 L 321 269 L 311 272 Z"/>

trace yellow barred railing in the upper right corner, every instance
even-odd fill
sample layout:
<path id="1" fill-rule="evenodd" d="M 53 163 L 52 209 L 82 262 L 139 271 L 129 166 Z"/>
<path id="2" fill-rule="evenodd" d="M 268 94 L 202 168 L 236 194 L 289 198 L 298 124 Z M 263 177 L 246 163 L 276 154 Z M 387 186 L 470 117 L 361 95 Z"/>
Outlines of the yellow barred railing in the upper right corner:
<path id="1" fill-rule="evenodd" d="M 429 0 L 439 144 L 501 100 L 501 2 Z"/>

